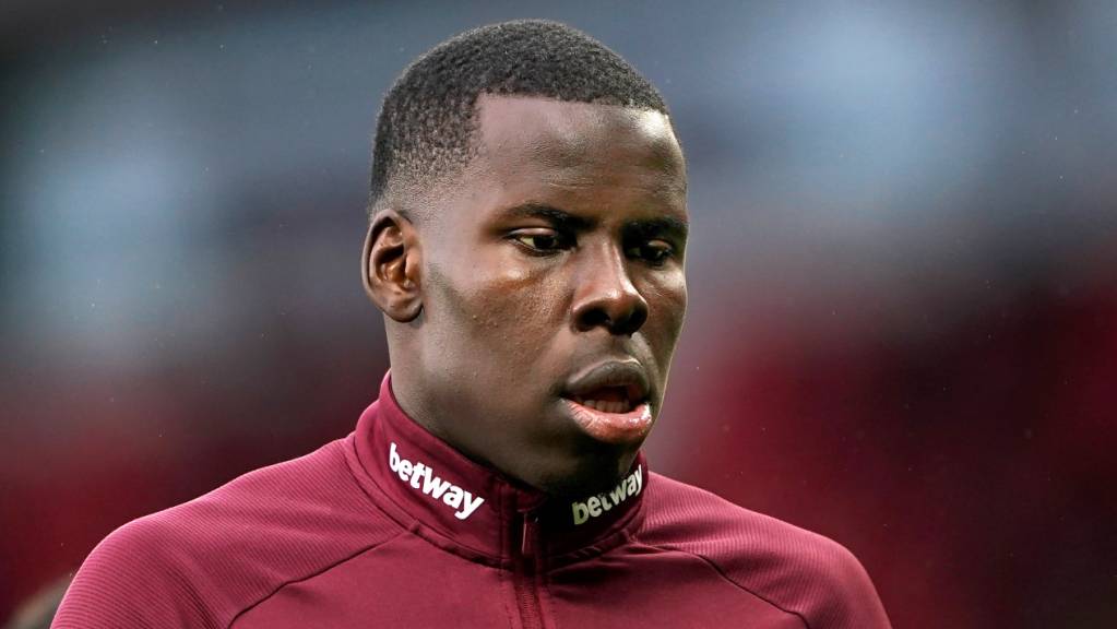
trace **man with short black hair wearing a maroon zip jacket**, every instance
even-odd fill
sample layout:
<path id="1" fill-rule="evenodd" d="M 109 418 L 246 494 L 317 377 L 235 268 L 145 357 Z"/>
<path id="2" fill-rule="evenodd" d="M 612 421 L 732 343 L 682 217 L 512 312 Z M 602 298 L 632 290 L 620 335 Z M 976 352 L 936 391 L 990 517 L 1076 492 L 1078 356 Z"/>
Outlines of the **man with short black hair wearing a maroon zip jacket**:
<path id="1" fill-rule="evenodd" d="M 356 430 L 109 535 L 55 627 L 887 627 L 848 551 L 650 473 L 686 309 L 656 89 L 554 22 L 466 32 L 380 114 Z"/>

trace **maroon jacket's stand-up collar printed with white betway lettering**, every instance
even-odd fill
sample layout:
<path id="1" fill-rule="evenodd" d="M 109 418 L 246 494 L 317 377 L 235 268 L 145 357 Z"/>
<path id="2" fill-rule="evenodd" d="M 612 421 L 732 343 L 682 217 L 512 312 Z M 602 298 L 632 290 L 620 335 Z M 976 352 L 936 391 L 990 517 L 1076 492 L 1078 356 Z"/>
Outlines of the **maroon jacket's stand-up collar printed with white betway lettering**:
<path id="1" fill-rule="evenodd" d="M 617 486 L 577 499 L 551 496 L 474 463 L 408 417 L 392 393 L 380 399 L 353 435 L 356 457 L 390 501 L 388 511 L 440 545 L 505 560 L 581 554 L 620 542 L 636 525 L 648 483 L 643 454 Z M 392 513 L 394 512 L 394 513 Z"/>

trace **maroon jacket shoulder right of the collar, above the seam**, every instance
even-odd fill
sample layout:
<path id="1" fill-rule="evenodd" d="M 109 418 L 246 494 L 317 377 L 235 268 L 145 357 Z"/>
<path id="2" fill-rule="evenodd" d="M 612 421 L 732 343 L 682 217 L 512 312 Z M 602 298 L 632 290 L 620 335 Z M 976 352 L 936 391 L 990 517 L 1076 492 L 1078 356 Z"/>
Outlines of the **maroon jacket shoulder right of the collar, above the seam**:
<path id="1" fill-rule="evenodd" d="M 888 627 L 861 563 L 841 544 L 662 475 L 648 484 L 638 540 L 707 562 L 811 629 Z"/>

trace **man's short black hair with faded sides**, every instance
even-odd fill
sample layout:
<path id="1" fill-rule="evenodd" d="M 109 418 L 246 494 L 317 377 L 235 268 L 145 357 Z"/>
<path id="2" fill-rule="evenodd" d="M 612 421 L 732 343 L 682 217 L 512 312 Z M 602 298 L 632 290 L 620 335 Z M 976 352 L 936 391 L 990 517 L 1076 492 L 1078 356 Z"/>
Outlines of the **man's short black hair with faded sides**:
<path id="1" fill-rule="evenodd" d="M 468 163 L 480 94 L 668 114 L 662 96 L 636 68 L 564 23 L 515 20 L 462 32 L 412 61 L 384 97 L 373 140 L 370 216 L 393 179 L 433 181 Z"/>

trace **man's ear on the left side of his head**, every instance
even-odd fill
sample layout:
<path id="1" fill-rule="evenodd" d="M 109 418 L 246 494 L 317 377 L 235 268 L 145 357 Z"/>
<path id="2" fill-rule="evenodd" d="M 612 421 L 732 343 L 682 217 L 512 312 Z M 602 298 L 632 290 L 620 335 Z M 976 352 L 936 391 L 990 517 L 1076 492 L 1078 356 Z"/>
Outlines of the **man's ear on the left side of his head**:
<path id="1" fill-rule="evenodd" d="M 369 226 L 361 254 L 364 292 L 378 308 L 400 323 L 413 321 L 422 312 L 418 236 L 410 220 L 385 209 Z"/>

